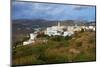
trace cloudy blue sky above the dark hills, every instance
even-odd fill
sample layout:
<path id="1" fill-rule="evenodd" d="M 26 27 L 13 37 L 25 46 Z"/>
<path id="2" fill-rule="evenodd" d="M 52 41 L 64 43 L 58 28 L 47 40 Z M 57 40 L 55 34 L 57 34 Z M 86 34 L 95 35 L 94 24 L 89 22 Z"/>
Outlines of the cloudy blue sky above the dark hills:
<path id="1" fill-rule="evenodd" d="M 95 7 L 13 1 L 12 18 L 94 21 Z"/>

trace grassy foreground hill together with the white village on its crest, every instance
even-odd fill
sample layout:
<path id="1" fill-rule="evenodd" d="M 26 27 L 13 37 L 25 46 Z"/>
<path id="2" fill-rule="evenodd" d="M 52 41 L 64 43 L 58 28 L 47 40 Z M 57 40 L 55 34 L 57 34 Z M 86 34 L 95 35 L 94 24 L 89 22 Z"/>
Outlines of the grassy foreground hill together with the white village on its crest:
<path id="1" fill-rule="evenodd" d="M 29 36 L 19 36 L 20 42 L 13 44 L 12 64 L 95 61 L 95 31 L 94 25 L 65 26 L 60 22 L 43 30 L 36 28 L 33 33 L 29 33 Z"/>

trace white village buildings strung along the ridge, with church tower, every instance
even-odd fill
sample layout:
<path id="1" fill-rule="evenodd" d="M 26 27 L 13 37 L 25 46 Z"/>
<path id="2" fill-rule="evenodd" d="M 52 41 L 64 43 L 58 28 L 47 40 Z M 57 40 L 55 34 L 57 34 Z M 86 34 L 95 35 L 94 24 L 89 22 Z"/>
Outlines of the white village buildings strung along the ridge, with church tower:
<path id="1" fill-rule="evenodd" d="M 30 33 L 30 38 L 27 41 L 23 42 L 23 45 L 29 45 L 32 43 L 35 43 L 36 39 L 37 39 L 37 35 L 39 33 L 44 33 L 44 35 L 48 35 L 48 36 L 71 36 L 73 35 L 75 32 L 77 31 L 95 31 L 95 26 L 89 25 L 89 26 L 78 26 L 77 24 L 75 24 L 74 26 L 64 26 L 61 25 L 60 22 L 58 22 L 58 24 L 56 26 L 51 26 L 51 27 L 47 27 L 45 30 L 40 31 L 40 28 L 36 29 L 33 33 Z M 42 40 L 43 42 L 46 42 L 47 40 L 44 39 Z"/>

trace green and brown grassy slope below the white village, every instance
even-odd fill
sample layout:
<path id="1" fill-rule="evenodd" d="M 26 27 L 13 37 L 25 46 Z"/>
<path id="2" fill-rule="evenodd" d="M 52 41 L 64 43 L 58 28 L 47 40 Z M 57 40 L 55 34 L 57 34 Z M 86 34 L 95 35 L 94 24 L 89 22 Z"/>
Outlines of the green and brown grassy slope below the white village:
<path id="1" fill-rule="evenodd" d="M 76 32 L 71 37 L 50 37 L 13 49 L 13 65 L 83 62 L 96 60 L 95 32 Z"/>

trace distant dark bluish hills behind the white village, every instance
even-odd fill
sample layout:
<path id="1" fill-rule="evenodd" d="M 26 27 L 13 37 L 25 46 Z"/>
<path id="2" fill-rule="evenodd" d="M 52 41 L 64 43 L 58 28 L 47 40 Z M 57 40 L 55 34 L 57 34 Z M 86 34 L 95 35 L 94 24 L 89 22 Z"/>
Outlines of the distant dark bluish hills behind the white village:
<path id="1" fill-rule="evenodd" d="M 58 22 L 61 22 L 61 25 L 95 25 L 95 22 L 86 22 L 79 20 L 63 20 L 63 21 L 51 21 L 44 19 L 18 19 L 12 20 L 12 32 L 15 33 L 29 33 L 33 32 L 34 28 L 46 28 L 50 26 L 57 25 Z"/>

